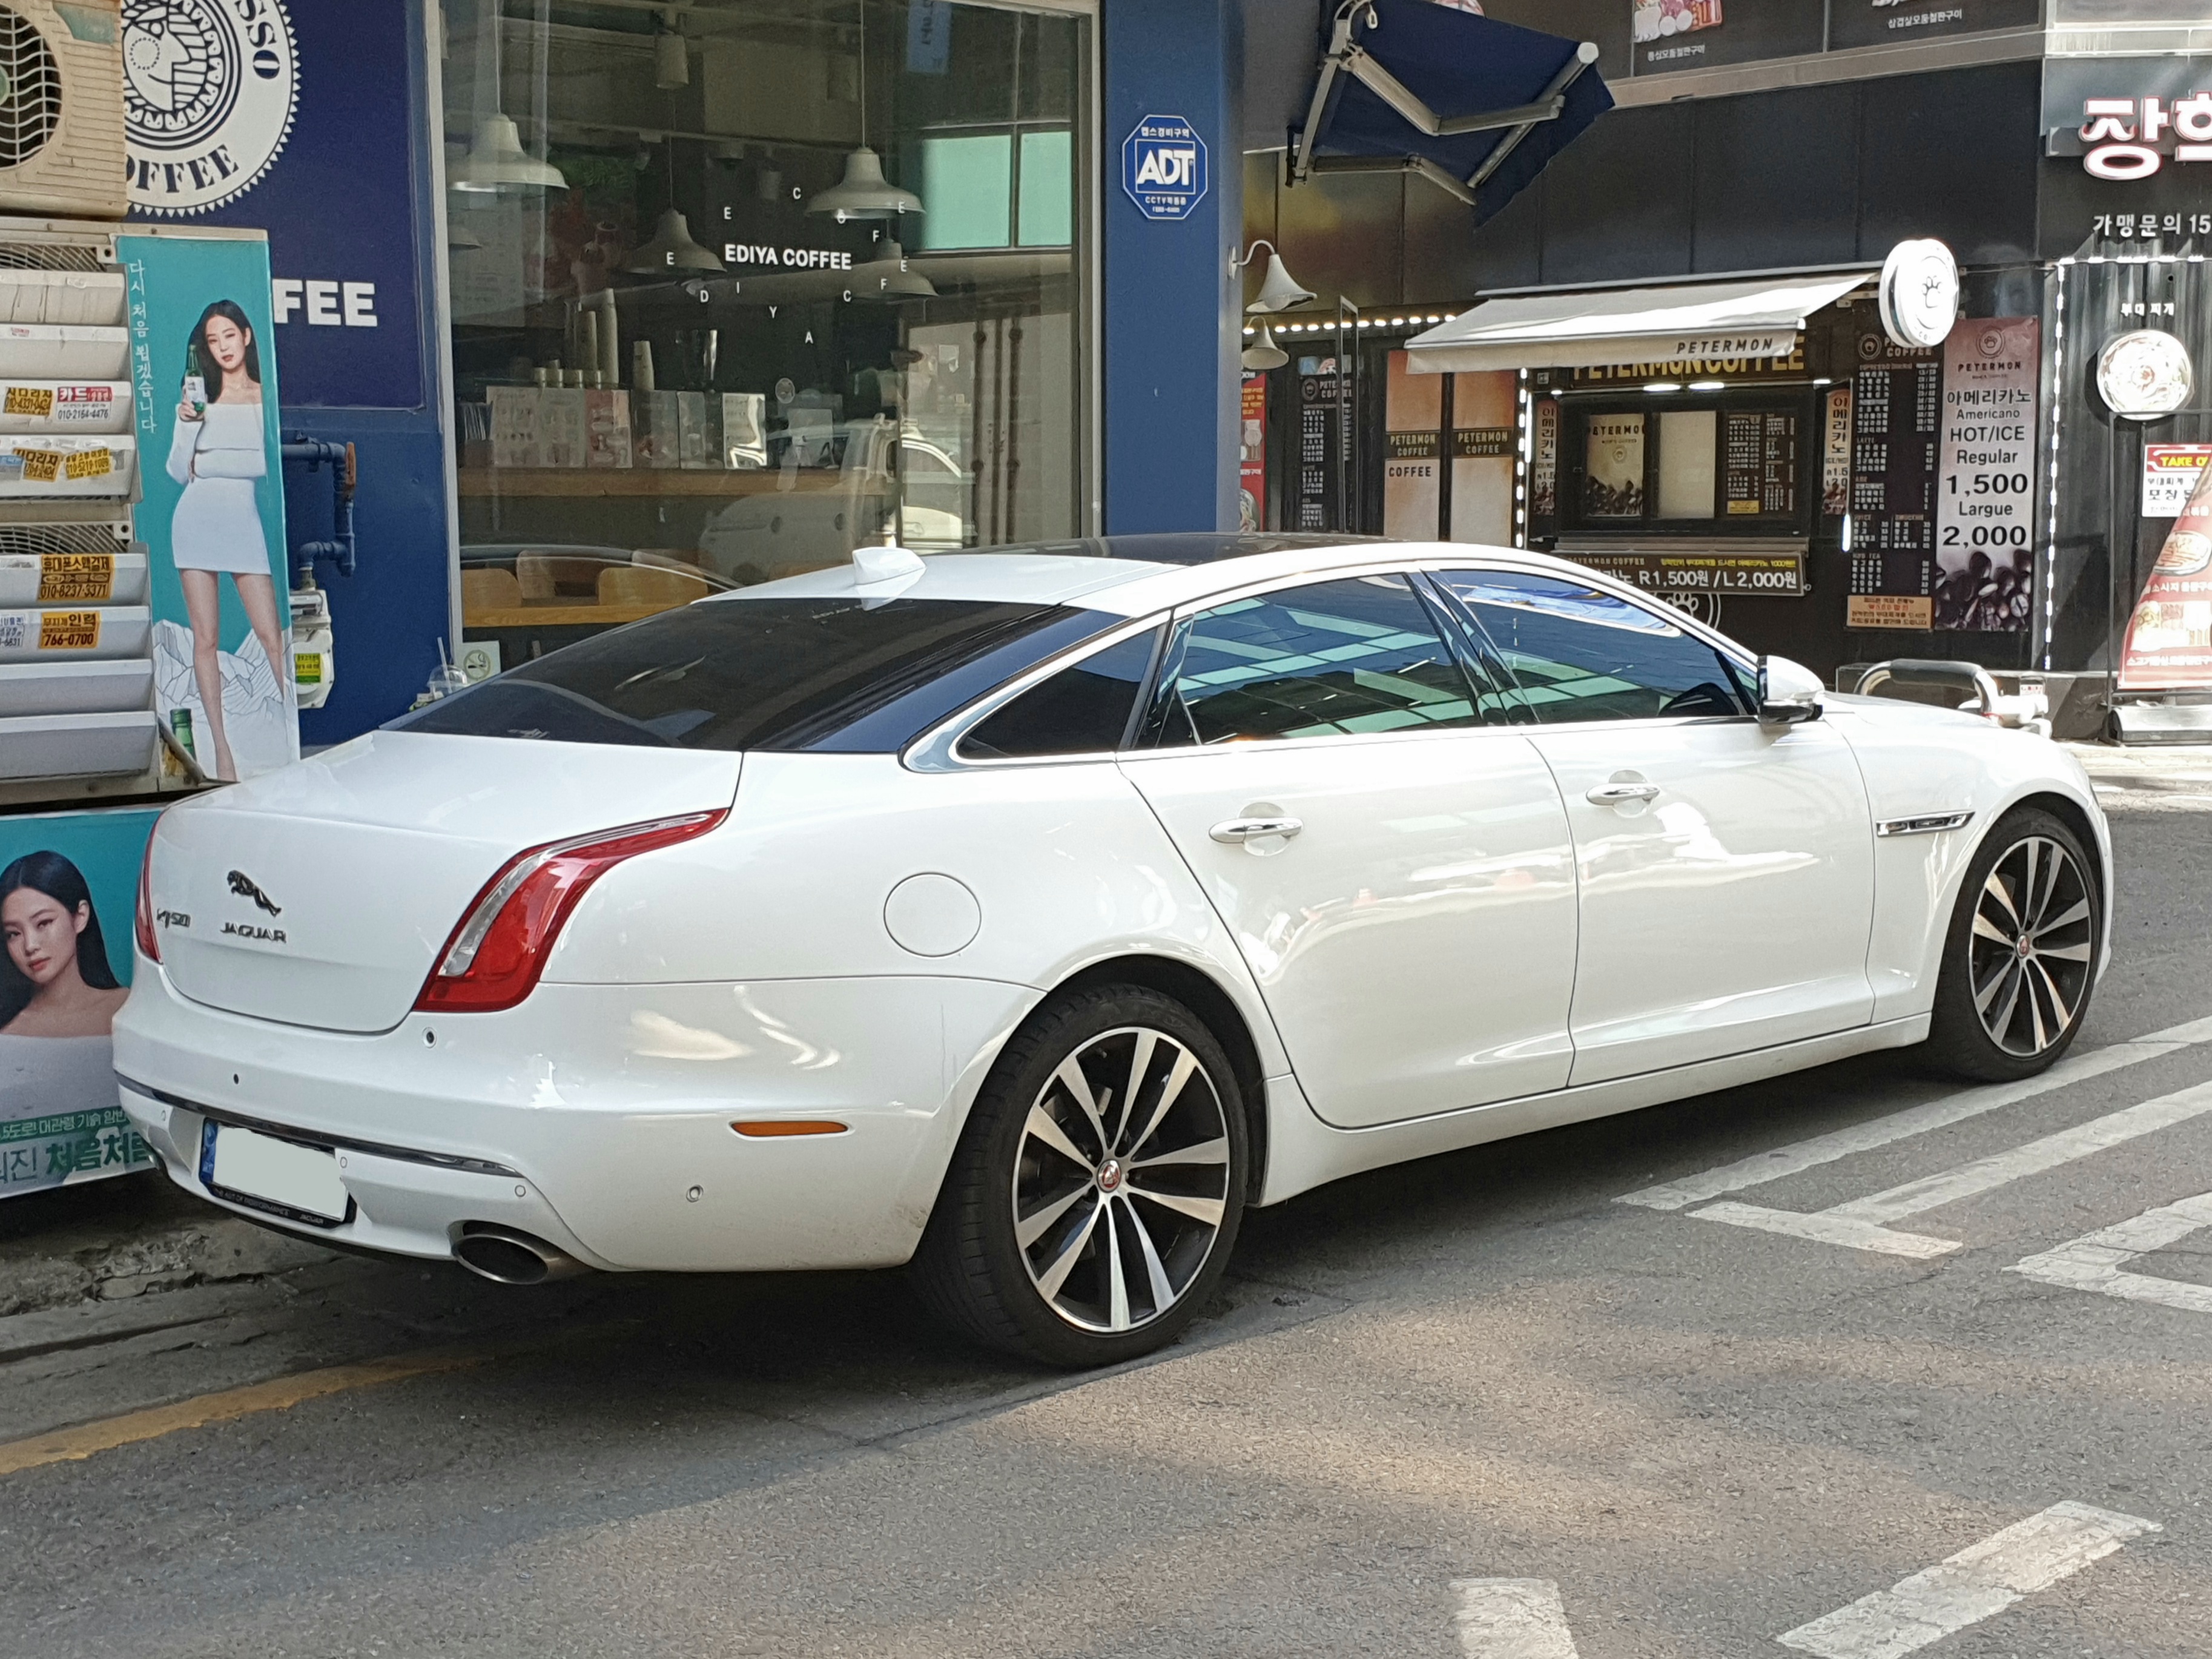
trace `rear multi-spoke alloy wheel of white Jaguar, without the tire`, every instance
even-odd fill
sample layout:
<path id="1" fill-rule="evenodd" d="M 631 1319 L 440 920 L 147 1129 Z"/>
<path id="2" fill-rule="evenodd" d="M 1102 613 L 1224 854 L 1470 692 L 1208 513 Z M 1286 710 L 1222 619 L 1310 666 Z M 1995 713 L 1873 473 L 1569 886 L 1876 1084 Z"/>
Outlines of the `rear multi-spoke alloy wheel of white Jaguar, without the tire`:
<path id="1" fill-rule="evenodd" d="M 1022 1265 L 1079 1329 L 1150 1325 L 1206 1267 L 1230 1175 L 1228 1119 L 1206 1064 L 1166 1031 L 1104 1031 L 1060 1062 L 1022 1124 Z"/>

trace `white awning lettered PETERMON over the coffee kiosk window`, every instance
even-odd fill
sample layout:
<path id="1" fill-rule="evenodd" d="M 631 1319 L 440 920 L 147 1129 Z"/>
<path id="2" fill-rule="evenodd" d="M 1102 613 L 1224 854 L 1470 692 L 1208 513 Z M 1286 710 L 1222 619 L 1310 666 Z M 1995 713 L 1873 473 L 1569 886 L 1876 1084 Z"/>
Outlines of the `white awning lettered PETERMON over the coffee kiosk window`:
<path id="1" fill-rule="evenodd" d="M 1805 319 L 1874 270 L 1493 299 L 1405 343 L 1416 374 L 1790 356 Z"/>

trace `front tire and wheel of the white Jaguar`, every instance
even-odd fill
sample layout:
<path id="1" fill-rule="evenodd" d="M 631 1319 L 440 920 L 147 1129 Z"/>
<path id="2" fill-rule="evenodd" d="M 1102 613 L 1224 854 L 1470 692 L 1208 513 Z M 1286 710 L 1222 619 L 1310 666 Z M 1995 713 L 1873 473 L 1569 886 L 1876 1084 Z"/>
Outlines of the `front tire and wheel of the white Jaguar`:
<path id="1" fill-rule="evenodd" d="M 2004 814 L 1966 865 L 1951 909 L 1929 1060 L 1986 1084 L 2051 1068 L 2088 1015 L 2101 945 L 2095 854 L 2051 812 Z"/>

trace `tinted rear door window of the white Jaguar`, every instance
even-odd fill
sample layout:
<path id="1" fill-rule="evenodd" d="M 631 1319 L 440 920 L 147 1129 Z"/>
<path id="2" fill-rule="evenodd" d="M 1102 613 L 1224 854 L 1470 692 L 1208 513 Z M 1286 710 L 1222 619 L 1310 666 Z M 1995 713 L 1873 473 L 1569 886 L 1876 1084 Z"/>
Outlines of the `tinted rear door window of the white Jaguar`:
<path id="1" fill-rule="evenodd" d="M 1161 677 L 1161 745 L 1480 726 L 1473 688 L 1405 577 L 1201 611 Z"/>

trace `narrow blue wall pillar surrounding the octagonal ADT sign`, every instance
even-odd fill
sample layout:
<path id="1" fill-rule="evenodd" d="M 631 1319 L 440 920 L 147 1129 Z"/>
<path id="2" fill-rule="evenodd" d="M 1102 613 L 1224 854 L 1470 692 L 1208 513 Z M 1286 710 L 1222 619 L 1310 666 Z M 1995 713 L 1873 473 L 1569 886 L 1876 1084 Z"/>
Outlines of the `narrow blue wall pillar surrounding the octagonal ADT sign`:
<path id="1" fill-rule="evenodd" d="M 1237 352 L 1243 234 L 1239 0 L 1104 0 L 1106 531 L 1237 526 Z M 1121 142 L 1181 115 L 1210 188 L 1188 219 L 1150 221 L 1121 188 Z"/>

